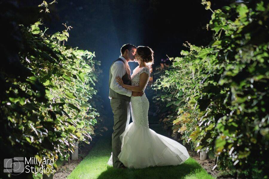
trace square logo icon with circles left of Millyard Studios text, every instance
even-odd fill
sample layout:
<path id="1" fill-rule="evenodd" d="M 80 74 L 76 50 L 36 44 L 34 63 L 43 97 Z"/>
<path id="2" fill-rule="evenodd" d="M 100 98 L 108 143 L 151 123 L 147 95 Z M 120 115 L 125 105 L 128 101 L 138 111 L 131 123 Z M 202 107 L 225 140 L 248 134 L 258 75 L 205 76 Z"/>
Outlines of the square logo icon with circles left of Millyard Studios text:
<path id="1" fill-rule="evenodd" d="M 24 172 L 23 160 L 23 157 L 5 158 L 4 173 L 10 173 L 11 175 L 19 175 Z"/>

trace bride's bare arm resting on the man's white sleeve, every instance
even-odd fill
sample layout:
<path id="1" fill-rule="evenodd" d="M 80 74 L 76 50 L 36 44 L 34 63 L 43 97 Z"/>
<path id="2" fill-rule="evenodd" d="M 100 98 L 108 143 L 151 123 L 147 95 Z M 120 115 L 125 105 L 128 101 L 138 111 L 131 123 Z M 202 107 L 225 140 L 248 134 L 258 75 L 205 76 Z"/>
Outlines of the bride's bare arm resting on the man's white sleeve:
<path id="1" fill-rule="evenodd" d="M 147 84 L 148 77 L 149 77 L 149 75 L 146 72 L 141 73 L 138 86 L 130 86 L 130 85 L 123 84 L 123 81 L 119 76 L 116 77 L 116 80 L 117 80 L 118 84 L 120 84 L 120 86 L 122 86 L 123 88 L 125 88 L 127 90 L 141 92 L 141 91 L 143 91 L 144 87 Z"/>

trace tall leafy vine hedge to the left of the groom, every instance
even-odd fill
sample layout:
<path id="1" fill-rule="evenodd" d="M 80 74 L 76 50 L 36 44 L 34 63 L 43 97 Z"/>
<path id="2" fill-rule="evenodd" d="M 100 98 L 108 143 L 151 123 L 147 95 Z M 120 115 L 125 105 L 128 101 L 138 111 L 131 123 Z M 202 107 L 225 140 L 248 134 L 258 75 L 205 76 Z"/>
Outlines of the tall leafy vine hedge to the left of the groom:
<path id="1" fill-rule="evenodd" d="M 0 44 L 1 164 L 3 158 L 16 156 L 57 159 L 73 151 L 76 142 L 89 142 L 97 123 L 99 114 L 88 102 L 96 94 L 99 74 L 95 55 L 64 45 L 71 27 L 45 33 L 41 17 L 46 17 L 49 5 L 0 3 L 5 27 Z"/>

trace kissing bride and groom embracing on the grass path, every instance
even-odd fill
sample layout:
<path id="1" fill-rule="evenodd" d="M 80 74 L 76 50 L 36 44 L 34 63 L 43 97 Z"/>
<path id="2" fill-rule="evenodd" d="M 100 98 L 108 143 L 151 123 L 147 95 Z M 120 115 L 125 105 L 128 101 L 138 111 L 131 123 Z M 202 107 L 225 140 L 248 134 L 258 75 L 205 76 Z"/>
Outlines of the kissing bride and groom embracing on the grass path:
<path id="1" fill-rule="evenodd" d="M 120 52 L 120 57 L 112 63 L 109 72 L 114 132 L 108 165 L 138 169 L 183 163 L 189 158 L 187 149 L 149 128 L 149 100 L 144 90 L 154 61 L 152 49 L 125 44 Z M 128 63 L 133 61 L 139 65 L 131 75 Z M 129 124 L 130 111 L 133 122 Z"/>

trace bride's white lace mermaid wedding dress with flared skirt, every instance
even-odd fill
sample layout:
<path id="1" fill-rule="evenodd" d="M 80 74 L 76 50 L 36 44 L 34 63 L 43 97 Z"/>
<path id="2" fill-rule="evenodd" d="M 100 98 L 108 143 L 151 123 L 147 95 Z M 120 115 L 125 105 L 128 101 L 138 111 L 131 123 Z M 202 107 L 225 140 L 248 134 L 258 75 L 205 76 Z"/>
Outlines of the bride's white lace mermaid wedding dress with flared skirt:
<path id="1" fill-rule="evenodd" d="M 138 86 L 140 74 L 143 72 L 150 74 L 147 67 L 135 68 L 131 76 L 132 86 Z M 149 101 L 145 93 L 143 96 L 131 96 L 133 122 L 120 135 L 122 142 L 121 152 L 118 155 L 120 161 L 124 166 L 135 169 L 178 165 L 186 161 L 189 153 L 183 145 L 149 129 L 148 110 Z M 108 165 L 112 164 L 111 155 Z"/>

